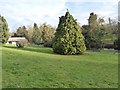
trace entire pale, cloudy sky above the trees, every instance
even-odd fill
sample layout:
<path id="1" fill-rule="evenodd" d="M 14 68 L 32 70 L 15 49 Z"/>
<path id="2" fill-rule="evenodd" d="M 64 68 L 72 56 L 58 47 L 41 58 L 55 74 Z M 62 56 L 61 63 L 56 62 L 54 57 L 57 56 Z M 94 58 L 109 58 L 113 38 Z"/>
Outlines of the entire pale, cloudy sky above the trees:
<path id="1" fill-rule="evenodd" d="M 57 27 L 59 17 L 67 9 L 84 25 L 91 12 L 105 19 L 117 17 L 118 0 L 0 0 L 0 14 L 6 18 L 10 31 L 34 22 L 47 22 Z"/>

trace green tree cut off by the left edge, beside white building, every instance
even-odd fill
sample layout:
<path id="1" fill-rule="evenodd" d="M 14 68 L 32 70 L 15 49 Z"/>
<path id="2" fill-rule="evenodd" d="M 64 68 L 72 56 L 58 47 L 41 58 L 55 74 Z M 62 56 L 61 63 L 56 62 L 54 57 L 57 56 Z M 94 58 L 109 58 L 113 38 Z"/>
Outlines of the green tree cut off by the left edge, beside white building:
<path id="1" fill-rule="evenodd" d="M 2 41 L 3 44 L 7 42 L 9 38 L 9 29 L 7 21 L 4 17 L 0 16 L 0 41 Z"/>

